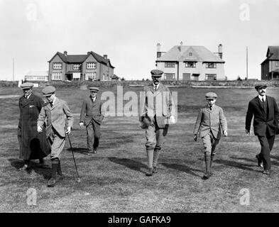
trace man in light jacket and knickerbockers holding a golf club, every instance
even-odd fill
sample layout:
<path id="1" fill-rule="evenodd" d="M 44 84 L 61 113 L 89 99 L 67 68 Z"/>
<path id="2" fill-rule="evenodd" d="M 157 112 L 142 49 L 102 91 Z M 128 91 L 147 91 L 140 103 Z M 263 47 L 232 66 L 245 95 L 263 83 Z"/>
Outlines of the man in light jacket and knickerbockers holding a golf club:
<path id="1" fill-rule="evenodd" d="M 52 174 L 48 180 L 48 187 L 55 186 L 58 175 L 62 179 L 61 152 L 65 145 L 66 134 L 71 132 L 74 118 L 67 102 L 55 96 L 55 87 L 47 86 L 43 89 L 43 95 L 48 102 L 43 106 L 38 116 L 37 131 L 43 131 L 46 120 L 46 137 L 51 144 L 51 167 Z M 58 174 L 58 175 L 57 175 Z"/>

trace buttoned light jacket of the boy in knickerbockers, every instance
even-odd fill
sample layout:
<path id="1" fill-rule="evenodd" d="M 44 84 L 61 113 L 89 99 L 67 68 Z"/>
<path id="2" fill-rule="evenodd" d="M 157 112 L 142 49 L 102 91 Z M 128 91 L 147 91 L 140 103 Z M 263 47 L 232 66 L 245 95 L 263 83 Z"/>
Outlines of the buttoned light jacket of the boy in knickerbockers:
<path id="1" fill-rule="evenodd" d="M 194 134 L 199 133 L 200 137 L 204 137 L 209 131 L 212 131 L 214 138 L 219 140 L 221 138 L 221 130 L 227 131 L 228 126 L 224 111 L 220 106 L 214 105 L 212 110 L 208 106 L 199 110 Z"/>

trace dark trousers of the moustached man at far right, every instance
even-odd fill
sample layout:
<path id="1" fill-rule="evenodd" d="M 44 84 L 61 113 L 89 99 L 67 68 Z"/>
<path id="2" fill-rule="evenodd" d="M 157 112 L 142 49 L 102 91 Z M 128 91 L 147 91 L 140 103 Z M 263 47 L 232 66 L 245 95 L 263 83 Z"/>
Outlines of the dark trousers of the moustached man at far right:
<path id="1" fill-rule="evenodd" d="M 258 135 L 258 140 L 261 143 L 261 153 L 259 153 L 259 156 L 263 160 L 263 169 L 270 170 L 270 151 L 273 148 L 275 135 L 269 135 L 269 133 L 266 133 L 266 136 Z"/>

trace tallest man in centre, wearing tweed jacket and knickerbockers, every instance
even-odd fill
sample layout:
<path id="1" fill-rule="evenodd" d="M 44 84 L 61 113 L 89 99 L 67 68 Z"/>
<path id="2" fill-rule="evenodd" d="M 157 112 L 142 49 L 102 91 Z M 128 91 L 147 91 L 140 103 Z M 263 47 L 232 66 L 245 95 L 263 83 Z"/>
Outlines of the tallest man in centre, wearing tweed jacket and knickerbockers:
<path id="1" fill-rule="evenodd" d="M 141 128 L 146 129 L 148 177 L 158 172 L 157 162 L 168 126 L 175 123 L 175 104 L 170 89 L 160 83 L 162 74 L 161 70 L 152 70 L 153 83 L 144 87 L 144 92 L 141 92 L 139 121 Z"/>

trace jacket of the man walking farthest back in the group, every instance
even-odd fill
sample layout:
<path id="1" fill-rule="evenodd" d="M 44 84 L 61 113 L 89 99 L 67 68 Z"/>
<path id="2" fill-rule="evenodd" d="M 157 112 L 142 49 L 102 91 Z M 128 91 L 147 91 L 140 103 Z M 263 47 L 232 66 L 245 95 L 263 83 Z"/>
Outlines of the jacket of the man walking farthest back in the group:
<path id="1" fill-rule="evenodd" d="M 88 126 L 92 119 L 99 124 L 104 119 L 104 110 L 102 110 L 102 101 L 99 96 L 96 97 L 94 102 L 91 96 L 87 96 L 82 103 L 80 122 L 84 122 L 85 126 Z"/>

